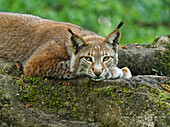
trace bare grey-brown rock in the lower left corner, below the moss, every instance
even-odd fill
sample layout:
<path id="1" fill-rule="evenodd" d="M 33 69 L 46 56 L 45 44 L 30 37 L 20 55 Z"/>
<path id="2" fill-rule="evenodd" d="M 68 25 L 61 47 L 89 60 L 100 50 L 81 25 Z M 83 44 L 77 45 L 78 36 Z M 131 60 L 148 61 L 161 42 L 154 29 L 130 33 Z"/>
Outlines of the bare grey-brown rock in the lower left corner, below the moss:
<path id="1" fill-rule="evenodd" d="M 11 76 L 0 74 L 0 125 L 2 127 L 98 127 L 101 125 L 98 122 L 59 119 L 54 113 L 45 113 L 36 108 L 26 109 L 25 104 L 19 99 L 21 87 Z"/>

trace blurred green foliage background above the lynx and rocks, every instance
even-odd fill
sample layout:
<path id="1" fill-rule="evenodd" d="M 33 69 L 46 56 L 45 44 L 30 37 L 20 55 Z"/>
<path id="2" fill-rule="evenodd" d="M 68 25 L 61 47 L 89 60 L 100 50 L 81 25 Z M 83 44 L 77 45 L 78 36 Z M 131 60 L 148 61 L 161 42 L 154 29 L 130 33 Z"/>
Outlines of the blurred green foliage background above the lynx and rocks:
<path id="1" fill-rule="evenodd" d="M 104 37 L 123 20 L 120 44 L 170 34 L 170 0 L 0 0 L 0 11 L 70 22 Z"/>

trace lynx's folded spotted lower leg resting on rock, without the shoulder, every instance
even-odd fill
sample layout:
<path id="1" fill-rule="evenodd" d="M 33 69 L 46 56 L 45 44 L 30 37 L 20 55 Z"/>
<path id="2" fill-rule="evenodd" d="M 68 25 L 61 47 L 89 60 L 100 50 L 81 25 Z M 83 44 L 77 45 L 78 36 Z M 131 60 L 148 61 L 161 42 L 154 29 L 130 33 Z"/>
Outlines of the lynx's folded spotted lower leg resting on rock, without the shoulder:
<path id="1" fill-rule="evenodd" d="M 69 61 L 58 62 L 55 59 L 42 56 L 42 54 L 34 55 L 26 62 L 24 73 L 27 76 L 74 78 L 69 69 Z"/>

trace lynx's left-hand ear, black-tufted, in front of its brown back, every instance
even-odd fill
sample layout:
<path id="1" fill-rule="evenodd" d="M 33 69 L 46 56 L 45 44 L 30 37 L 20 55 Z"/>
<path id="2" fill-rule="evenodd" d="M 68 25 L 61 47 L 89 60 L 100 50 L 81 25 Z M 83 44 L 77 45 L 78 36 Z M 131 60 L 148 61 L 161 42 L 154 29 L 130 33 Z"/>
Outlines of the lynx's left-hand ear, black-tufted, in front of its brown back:
<path id="1" fill-rule="evenodd" d="M 71 33 L 71 42 L 73 43 L 73 48 L 75 49 L 75 54 L 77 54 L 85 45 L 85 41 L 74 34 L 71 29 L 68 30 Z"/>

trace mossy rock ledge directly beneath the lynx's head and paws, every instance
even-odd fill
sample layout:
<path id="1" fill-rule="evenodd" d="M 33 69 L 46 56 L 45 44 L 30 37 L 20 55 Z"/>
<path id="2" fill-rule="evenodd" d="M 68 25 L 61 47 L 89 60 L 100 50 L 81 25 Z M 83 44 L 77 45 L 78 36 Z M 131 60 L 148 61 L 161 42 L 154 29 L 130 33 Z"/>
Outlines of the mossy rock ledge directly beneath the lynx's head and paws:
<path id="1" fill-rule="evenodd" d="M 22 80 L 26 84 L 20 100 L 38 110 L 55 113 L 58 118 L 99 122 L 103 126 L 149 125 L 150 120 L 144 120 L 144 116 L 157 116 L 152 121 L 156 125 L 168 118 L 170 94 L 161 92 L 161 84 L 169 84 L 167 77 L 136 76 L 93 82 L 88 78 L 58 81 L 24 76 Z"/>

